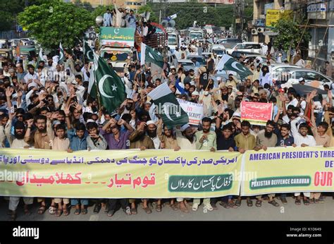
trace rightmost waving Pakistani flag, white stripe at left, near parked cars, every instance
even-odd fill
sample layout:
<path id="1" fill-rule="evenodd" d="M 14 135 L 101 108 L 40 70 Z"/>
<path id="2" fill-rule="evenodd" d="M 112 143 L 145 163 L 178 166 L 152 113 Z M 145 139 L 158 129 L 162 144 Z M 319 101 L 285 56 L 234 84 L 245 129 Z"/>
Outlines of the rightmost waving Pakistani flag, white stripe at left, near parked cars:
<path id="1" fill-rule="evenodd" d="M 249 71 L 248 68 L 243 66 L 241 63 L 235 61 L 232 56 L 229 56 L 227 54 L 224 54 L 221 58 L 221 61 L 219 61 L 218 65 L 216 66 L 216 71 L 234 71 L 238 75 L 240 75 L 240 78 L 245 78 L 248 75 L 253 75 L 252 71 Z"/>

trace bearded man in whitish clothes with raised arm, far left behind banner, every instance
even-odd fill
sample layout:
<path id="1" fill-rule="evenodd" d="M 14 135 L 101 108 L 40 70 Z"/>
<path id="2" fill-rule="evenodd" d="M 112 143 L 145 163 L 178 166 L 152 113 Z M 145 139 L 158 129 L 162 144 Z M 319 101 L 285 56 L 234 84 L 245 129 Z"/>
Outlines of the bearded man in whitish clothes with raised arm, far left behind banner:
<path id="1" fill-rule="evenodd" d="M 9 114 L 9 121 L 12 121 L 13 114 Z M 11 148 L 23 148 L 30 147 L 27 142 L 25 142 L 25 123 L 23 121 L 17 121 L 14 126 L 14 136 L 11 135 L 10 130 L 6 130 L 6 135 L 8 138 L 8 142 L 11 145 Z M 33 197 L 23 197 L 24 211 L 26 215 L 30 214 L 28 209 L 28 205 L 32 205 L 34 198 Z M 20 197 L 9 197 L 9 213 L 11 216 L 11 220 L 16 220 L 16 209 L 18 208 L 18 204 L 20 202 Z"/>

